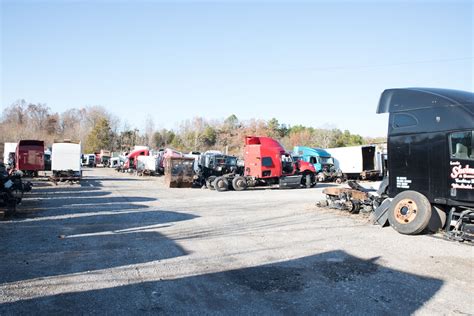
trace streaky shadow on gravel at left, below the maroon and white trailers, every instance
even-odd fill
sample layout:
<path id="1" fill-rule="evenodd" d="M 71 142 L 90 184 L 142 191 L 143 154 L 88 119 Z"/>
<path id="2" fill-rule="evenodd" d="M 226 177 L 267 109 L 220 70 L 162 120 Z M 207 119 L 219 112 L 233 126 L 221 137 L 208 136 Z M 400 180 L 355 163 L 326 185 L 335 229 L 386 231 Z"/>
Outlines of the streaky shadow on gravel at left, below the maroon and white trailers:
<path id="1" fill-rule="evenodd" d="M 102 188 L 103 189 L 103 188 Z M 0 223 L 0 283 L 184 256 L 159 229 L 195 215 L 150 207 L 154 198 L 89 186 L 48 187 Z"/>

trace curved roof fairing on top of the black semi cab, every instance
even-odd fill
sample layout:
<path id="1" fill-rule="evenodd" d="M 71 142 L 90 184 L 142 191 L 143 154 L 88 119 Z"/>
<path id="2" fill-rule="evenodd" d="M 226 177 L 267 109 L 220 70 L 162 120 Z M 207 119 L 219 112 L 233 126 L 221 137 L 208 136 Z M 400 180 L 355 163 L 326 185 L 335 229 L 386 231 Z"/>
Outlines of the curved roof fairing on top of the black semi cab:
<path id="1" fill-rule="evenodd" d="M 437 88 L 387 89 L 379 100 L 377 113 L 458 106 L 474 114 L 474 93 Z"/>

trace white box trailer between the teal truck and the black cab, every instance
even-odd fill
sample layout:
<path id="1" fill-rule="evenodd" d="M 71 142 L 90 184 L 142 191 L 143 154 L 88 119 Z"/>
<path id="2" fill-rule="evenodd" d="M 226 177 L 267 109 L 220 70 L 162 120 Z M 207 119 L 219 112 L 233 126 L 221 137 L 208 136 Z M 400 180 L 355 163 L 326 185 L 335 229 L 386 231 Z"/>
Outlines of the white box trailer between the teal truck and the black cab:
<path id="1" fill-rule="evenodd" d="M 363 145 L 325 149 L 334 159 L 336 168 L 347 178 L 375 179 L 385 171 L 386 146 Z"/>

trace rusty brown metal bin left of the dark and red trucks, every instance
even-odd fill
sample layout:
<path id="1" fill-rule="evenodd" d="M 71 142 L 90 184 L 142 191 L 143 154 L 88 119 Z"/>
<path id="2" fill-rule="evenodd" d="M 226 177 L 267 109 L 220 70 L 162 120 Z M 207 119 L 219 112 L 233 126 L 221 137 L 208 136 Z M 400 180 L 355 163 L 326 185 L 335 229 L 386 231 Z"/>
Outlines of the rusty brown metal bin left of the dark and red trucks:
<path id="1" fill-rule="evenodd" d="M 165 184 L 170 188 L 191 188 L 194 180 L 194 158 L 169 157 L 165 160 Z"/>

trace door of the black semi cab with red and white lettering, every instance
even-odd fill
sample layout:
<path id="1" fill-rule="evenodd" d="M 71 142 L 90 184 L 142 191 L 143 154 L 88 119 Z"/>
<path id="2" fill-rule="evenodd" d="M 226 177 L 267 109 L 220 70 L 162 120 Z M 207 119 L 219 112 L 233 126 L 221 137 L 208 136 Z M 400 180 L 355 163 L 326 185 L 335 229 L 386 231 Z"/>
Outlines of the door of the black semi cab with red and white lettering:
<path id="1" fill-rule="evenodd" d="M 449 192 L 453 200 L 474 201 L 474 135 L 457 131 L 449 135 Z"/>

